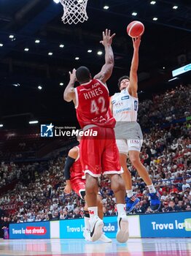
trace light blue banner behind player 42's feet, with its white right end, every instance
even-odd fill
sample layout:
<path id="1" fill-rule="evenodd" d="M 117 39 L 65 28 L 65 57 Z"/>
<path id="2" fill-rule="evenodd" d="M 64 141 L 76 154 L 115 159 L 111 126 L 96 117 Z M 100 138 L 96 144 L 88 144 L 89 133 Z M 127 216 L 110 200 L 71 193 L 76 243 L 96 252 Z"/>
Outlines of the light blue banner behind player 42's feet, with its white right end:
<path id="1" fill-rule="evenodd" d="M 130 237 L 141 237 L 139 216 L 128 217 Z M 84 219 L 68 219 L 60 222 L 61 238 L 83 238 Z M 109 238 L 116 238 L 117 217 L 104 217 L 104 233 Z"/>

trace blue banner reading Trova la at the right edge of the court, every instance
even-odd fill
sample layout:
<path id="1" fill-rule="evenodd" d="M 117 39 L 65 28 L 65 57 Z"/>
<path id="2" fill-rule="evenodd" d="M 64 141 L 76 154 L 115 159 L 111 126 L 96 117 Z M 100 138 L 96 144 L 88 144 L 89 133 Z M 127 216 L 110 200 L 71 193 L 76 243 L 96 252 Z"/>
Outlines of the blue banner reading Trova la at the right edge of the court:
<path id="1" fill-rule="evenodd" d="M 191 211 L 140 215 L 141 238 L 191 237 Z"/>

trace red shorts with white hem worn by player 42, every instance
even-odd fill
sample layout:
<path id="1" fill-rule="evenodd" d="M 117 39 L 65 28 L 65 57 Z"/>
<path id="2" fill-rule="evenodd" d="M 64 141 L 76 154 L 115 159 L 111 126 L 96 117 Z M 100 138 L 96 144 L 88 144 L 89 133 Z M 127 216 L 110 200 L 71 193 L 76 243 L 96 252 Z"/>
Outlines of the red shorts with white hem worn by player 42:
<path id="1" fill-rule="evenodd" d="M 82 136 L 80 162 L 82 170 L 93 177 L 102 174 L 120 174 L 123 170 L 120 166 L 120 154 L 116 145 L 114 129 L 93 126 L 90 134 L 96 136 Z M 87 131 L 87 129 L 86 129 Z"/>

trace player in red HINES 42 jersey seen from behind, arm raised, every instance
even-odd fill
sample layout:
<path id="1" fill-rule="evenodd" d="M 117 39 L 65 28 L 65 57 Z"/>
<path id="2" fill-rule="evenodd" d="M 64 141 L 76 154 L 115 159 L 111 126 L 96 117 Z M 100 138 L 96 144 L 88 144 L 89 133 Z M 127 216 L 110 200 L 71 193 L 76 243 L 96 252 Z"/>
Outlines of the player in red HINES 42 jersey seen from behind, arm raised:
<path id="1" fill-rule="evenodd" d="M 114 137 L 115 119 L 109 110 L 109 91 L 106 80 L 112 75 L 114 55 L 112 51 L 112 36 L 110 30 L 103 32 L 101 43 L 105 48 L 105 64 L 101 72 L 91 77 L 87 67 L 73 69 L 70 81 L 63 94 L 67 102 L 74 102 L 77 119 L 83 131 L 93 131 L 95 137 L 82 137 L 80 161 L 86 174 L 85 193 L 90 214 L 90 236 L 93 241 L 102 234 L 104 222 L 98 217 L 97 194 L 98 177 L 107 174 L 111 180 L 118 211 L 117 241 L 128 240 L 128 218 L 125 213 L 125 184 L 120 173 L 119 151 Z M 75 81 L 80 86 L 74 89 Z"/>

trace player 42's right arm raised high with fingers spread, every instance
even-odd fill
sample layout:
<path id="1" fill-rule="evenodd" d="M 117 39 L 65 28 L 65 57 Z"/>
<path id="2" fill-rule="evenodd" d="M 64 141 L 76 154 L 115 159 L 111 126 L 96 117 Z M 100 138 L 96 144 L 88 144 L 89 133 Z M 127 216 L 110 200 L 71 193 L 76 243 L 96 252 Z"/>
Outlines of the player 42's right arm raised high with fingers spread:
<path id="1" fill-rule="evenodd" d="M 106 29 L 103 32 L 103 40 L 101 41 L 102 45 L 105 47 L 105 64 L 101 68 L 101 72 L 95 75 L 95 79 L 101 80 L 103 83 L 106 83 L 106 80 L 110 78 L 112 75 L 113 67 L 114 67 L 114 53 L 112 50 L 112 39 L 115 34 L 110 35 L 111 31 Z"/>

